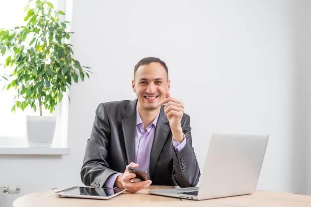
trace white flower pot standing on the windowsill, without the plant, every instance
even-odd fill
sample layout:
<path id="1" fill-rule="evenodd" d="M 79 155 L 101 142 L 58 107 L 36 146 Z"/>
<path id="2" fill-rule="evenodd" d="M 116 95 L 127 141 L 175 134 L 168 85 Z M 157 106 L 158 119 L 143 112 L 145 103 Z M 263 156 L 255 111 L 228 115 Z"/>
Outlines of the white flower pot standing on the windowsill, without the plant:
<path id="1" fill-rule="evenodd" d="M 51 147 L 56 116 L 26 116 L 29 147 Z"/>

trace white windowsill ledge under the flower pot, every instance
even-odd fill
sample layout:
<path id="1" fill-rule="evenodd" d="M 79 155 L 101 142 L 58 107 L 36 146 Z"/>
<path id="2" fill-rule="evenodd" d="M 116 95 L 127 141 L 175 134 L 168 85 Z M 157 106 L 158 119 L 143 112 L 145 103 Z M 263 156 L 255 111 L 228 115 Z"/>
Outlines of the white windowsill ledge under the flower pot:
<path id="1" fill-rule="evenodd" d="M 68 147 L 4 147 L 0 146 L 0 154 L 29 154 L 29 155 L 62 155 L 69 154 Z"/>

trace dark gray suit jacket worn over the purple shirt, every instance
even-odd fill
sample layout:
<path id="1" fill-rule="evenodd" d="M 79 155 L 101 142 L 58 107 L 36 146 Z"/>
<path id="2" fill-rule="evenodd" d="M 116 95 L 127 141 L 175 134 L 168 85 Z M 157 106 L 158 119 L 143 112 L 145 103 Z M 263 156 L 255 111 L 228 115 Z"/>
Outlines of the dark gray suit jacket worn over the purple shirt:
<path id="1" fill-rule="evenodd" d="M 86 186 L 103 187 L 114 173 L 123 173 L 134 160 L 136 135 L 136 104 L 124 100 L 101 103 L 87 140 L 81 180 Z M 190 117 L 181 120 L 186 146 L 175 152 L 168 120 L 161 107 L 156 124 L 150 157 L 150 178 L 153 185 L 196 186 L 200 177 L 198 162 L 191 146 Z"/>

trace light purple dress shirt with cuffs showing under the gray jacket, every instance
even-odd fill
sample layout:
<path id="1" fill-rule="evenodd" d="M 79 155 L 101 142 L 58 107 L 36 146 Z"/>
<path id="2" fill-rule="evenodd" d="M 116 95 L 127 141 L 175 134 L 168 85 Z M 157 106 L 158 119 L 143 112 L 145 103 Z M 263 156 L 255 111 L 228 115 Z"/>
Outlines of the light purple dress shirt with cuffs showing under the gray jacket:
<path id="1" fill-rule="evenodd" d="M 155 120 L 144 130 L 143 121 L 138 112 L 138 108 L 136 106 L 136 138 L 135 138 L 135 154 L 134 154 L 134 162 L 139 164 L 139 169 L 146 170 L 148 179 L 150 179 L 149 167 L 150 167 L 150 154 L 151 148 L 155 137 L 156 132 L 156 123 L 158 120 L 159 114 L 156 116 Z M 180 151 L 186 145 L 186 138 L 184 135 L 184 140 L 179 143 L 177 141 L 172 140 L 173 148 L 175 152 Z M 106 188 L 113 188 L 114 183 L 117 177 L 121 173 L 115 173 L 111 175 L 105 182 Z"/>

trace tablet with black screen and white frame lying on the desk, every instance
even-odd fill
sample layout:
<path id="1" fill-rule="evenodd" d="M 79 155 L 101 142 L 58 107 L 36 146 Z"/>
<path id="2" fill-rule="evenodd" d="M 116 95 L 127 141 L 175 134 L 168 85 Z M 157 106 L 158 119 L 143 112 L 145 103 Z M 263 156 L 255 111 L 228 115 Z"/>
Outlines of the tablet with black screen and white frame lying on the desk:
<path id="1" fill-rule="evenodd" d="M 110 188 L 93 188 L 93 187 L 72 187 L 62 191 L 54 192 L 60 198 L 82 198 L 82 199 L 103 199 L 108 200 L 119 194 L 124 189 L 110 189 Z"/>

